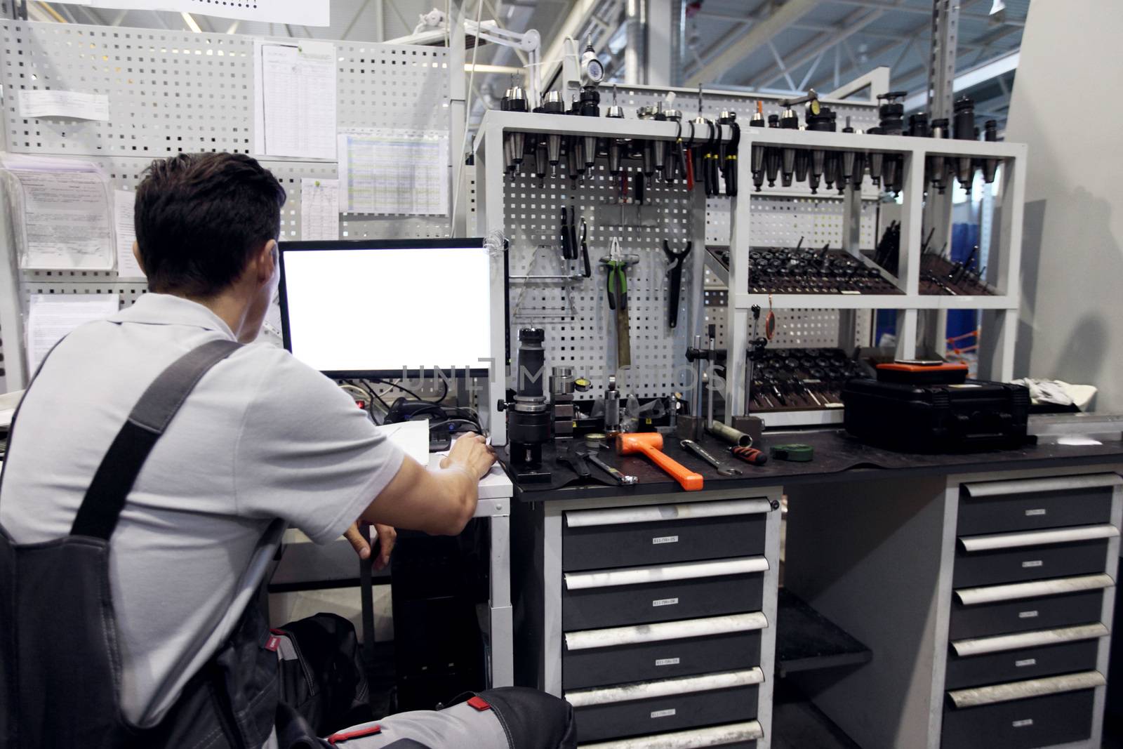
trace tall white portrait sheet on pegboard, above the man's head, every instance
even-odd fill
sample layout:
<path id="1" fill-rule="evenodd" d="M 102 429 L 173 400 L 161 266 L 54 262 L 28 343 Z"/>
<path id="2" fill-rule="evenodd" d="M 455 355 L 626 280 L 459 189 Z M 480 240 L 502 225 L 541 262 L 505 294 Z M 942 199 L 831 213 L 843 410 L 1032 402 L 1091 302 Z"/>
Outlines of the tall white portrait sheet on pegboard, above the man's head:
<path id="1" fill-rule="evenodd" d="M 336 46 L 254 42 L 254 150 L 336 158 Z"/>

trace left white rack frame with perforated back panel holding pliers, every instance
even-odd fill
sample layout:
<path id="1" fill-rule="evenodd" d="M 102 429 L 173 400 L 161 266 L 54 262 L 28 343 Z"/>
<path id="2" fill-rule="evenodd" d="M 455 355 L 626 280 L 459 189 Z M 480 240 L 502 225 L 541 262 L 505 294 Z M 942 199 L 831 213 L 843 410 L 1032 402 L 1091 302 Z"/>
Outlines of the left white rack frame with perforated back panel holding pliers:
<path id="1" fill-rule="evenodd" d="M 687 346 L 703 332 L 704 259 L 706 198 L 695 188 L 687 191 L 684 180 L 673 183 L 652 182 L 642 205 L 612 202 L 618 194 L 617 180 L 611 177 L 604 159 L 599 159 L 584 181 L 576 186 L 565 174 L 539 181 L 527 174 L 528 165 L 514 175 L 504 171 L 504 133 L 559 134 L 562 136 L 596 136 L 597 138 L 632 138 L 667 140 L 676 138 L 674 122 L 609 119 L 526 112 L 489 111 L 480 126 L 475 141 L 477 195 L 477 231 L 489 237 L 492 247 L 500 247 L 496 232 L 506 239 L 503 253 L 492 259 L 492 350 L 502 353 L 510 337 L 512 363 L 518 350 L 518 329 L 539 326 L 546 329 L 546 365 L 573 366 L 577 375 L 587 375 L 595 387 L 593 396 L 603 392 L 609 374 L 617 374 L 621 387 L 639 398 L 668 395 L 673 391 L 693 389 L 693 373 L 685 358 Z M 729 140 L 731 128 L 722 127 L 722 139 Z M 626 162 L 630 177 L 640 174 L 638 163 Z M 640 179 L 642 175 L 640 174 Z M 711 199 L 712 200 L 712 199 Z M 729 199 L 724 199 L 729 200 Z M 559 267 L 557 239 L 559 212 L 576 208 L 576 220 L 588 223 L 591 278 L 582 278 L 565 289 L 566 282 L 535 284 L 521 289 L 512 280 L 510 296 L 504 289 L 504 263 L 512 276 L 527 274 L 564 274 Z M 605 208 L 608 207 L 608 208 Z M 611 223 L 617 210 L 619 223 Z M 620 239 L 626 255 L 638 255 L 640 262 L 628 271 L 629 316 L 631 318 L 630 368 L 615 372 L 614 313 L 609 310 L 605 274 L 597 261 L 608 254 L 611 239 Z M 668 323 L 667 262 L 663 241 L 681 250 L 686 241 L 693 249 L 683 267 L 677 327 Z M 549 263 L 549 264 L 548 264 Z M 551 265 L 550 265 L 551 264 Z M 526 292 L 526 293 L 520 293 Z M 523 313 L 529 305 L 539 312 Z M 572 308 L 567 308 L 570 304 Z M 509 305 L 509 310 L 505 309 Z M 563 309 L 550 314 L 548 310 Z M 565 309 L 569 313 L 565 313 Z M 573 313 L 576 310 L 576 313 Z M 612 368 L 610 368 L 612 367 Z M 505 382 L 492 383 L 492 402 L 506 387 Z M 506 442 L 505 424 L 491 424 L 492 440 Z"/>

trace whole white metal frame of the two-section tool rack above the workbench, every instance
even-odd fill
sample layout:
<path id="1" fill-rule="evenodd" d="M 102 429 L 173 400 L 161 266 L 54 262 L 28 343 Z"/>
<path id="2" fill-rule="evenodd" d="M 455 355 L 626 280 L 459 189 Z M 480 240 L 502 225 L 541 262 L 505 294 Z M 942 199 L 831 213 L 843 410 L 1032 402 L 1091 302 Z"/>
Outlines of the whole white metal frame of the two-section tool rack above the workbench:
<path id="1" fill-rule="evenodd" d="M 495 231 L 504 227 L 504 190 L 508 176 L 503 170 L 503 134 L 505 131 L 555 133 L 565 136 L 596 136 L 603 138 L 638 138 L 674 140 L 678 133 L 674 122 L 639 119 L 608 119 L 559 115 L 489 111 L 481 124 L 475 140 L 477 185 L 482 207 L 477 211 L 477 231 L 494 239 Z M 731 137 L 731 129 L 722 127 L 722 138 Z M 977 309 L 996 316 L 994 325 L 986 332 L 987 355 L 980 355 L 980 376 L 1008 381 L 1013 377 L 1014 341 L 1017 327 L 1017 309 L 1021 302 L 1019 275 L 1021 271 L 1022 213 L 1025 190 L 1024 144 L 983 143 L 971 140 L 933 140 L 905 136 L 857 135 L 844 133 L 814 133 L 805 130 L 780 130 L 772 128 L 742 127 L 739 152 L 748 154 L 754 144 L 768 146 L 795 146 L 798 148 L 822 148 L 827 150 L 877 150 L 900 154 L 903 158 L 902 186 L 902 240 L 900 275 L 887 277 L 903 292 L 901 294 L 754 294 L 749 287 L 749 248 L 752 237 L 751 205 L 755 198 L 766 195 L 752 192 L 750 159 L 739 158 L 738 181 L 741 191 L 730 198 L 731 235 L 730 267 L 728 276 L 715 270 L 720 265 L 709 258 L 709 253 L 694 254 L 699 265 L 692 276 L 690 290 L 684 289 L 685 302 L 692 309 L 700 307 L 702 295 L 702 268 L 709 266 L 722 281 L 728 278 L 730 303 L 725 311 L 725 345 L 730 351 L 746 351 L 751 331 L 750 310 L 754 304 L 776 310 L 820 309 L 834 311 L 852 310 L 897 310 L 897 356 L 916 356 L 920 312 L 924 310 L 943 313 L 947 310 Z M 943 296 L 920 293 L 920 264 L 922 223 L 925 208 L 924 162 L 928 155 L 944 157 L 970 156 L 975 158 L 997 158 L 1003 164 L 1001 200 L 1002 227 L 997 243 L 992 249 L 988 283 L 996 295 Z M 748 188 L 746 188 L 748 185 Z M 697 194 L 697 192 L 696 192 Z M 803 195 L 793 193 L 792 199 Z M 775 200 L 775 198 L 772 198 Z M 848 190 L 842 197 L 844 203 L 846 229 L 843 249 L 867 262 L 860 253 L 859 231 L 861 204 L 866 199 L 861 192 Z M 687 210 L 699 211 L 699 201 L 691 201 Z M 935 202 L 935 201 L 932 201 Z M 947 201 L 946 201 L 947 202 Z M 950 205 L 950 203 L 947 203 Z M 701 209 L 704 211 L 704 208 Z M 943 220 L 949 220 L 950 217 Z M 940 220 L 940 219 L 937 219 Z M 695 221 L 699 227 L 703 221 Z M 704 236 L 694 237 L 695 247 L 705 246 Z M 503 351 L 509 321 L 505 313 L 505 290 L 503 287 L 503 255 L 492 256 L 492 350 Z M 687 335 L 702 332 L 704 316 L 692 314 Z M 514 350 L 512 348 L 512 356 Z M 497 355 L 496 355 L 497 356 Z M 730 369 L 725 375 L 727 419 L 745 413 L 745 355 L 730 357 Z M 492 403 L 500 400 L 505 381 L 496 377 L 491 383 Z M 492 435 L 496 445 L 506 442 L 505 424 L 493 420 Z"/>

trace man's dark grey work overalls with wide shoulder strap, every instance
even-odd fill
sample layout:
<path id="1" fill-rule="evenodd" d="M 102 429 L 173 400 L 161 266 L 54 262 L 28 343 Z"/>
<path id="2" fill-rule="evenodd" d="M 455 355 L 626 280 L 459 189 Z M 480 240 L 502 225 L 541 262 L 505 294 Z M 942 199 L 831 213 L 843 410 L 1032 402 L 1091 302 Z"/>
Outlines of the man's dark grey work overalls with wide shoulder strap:
<path id="1" fill-rule="evenodd" d="M 156 440 L 202 376 L 238 347 L 203 344 L 149 385 L 98 466 L 69 536 L 15 544 L 0 527 L 0 749 L 258 749 L 274 728 L 285 749 L 575 747 L 568 703 L 520 687 L 316 738 L 280 703 L 277 638 L 254 603 L 157 725 L 139 728 L 121 714 L 110 537 Z M 9 455 L 15 427 L 12 419 Z"/>

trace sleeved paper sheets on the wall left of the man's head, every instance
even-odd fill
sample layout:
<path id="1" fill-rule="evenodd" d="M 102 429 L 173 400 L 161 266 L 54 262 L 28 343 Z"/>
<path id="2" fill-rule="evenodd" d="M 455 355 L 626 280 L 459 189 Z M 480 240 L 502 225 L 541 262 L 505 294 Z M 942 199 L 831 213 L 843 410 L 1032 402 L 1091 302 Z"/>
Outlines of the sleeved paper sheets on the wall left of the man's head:
<path id="1" fill-rule="evenodd" d="M 113 268 L 113 223 L 106 175 L 88 162 L 3 157 L 19 265 L 35 270 Z"/>

